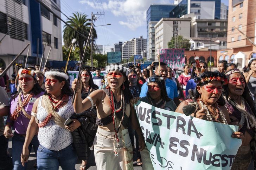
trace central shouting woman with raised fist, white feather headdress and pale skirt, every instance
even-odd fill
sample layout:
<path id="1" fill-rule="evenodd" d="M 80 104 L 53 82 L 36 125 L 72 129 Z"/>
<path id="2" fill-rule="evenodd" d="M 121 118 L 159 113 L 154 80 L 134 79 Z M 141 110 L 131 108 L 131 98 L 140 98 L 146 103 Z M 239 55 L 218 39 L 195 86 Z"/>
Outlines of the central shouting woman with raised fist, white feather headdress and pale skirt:
<path id="1" fill-rule="evenodd" d="M 126 67 L 111 64 L 106 67 L 108 86 L 93 91 L 83 101 L 81 99 L 81 81 L 75 79 L 72 89 L 76 91 L 73 103 L 76 113 L 96 104 L 98 130 L 94 139 L 94 156 L 98 169 L 133 169 L 133 149 L 128 134 L 129 120 L 139 135 L 140 150 L 145 143 L 135 113 L 131 114 L 129 100 L 132 94 L 126 76 Z M 130 119 L 129 119 L 130 117 Z"/>

